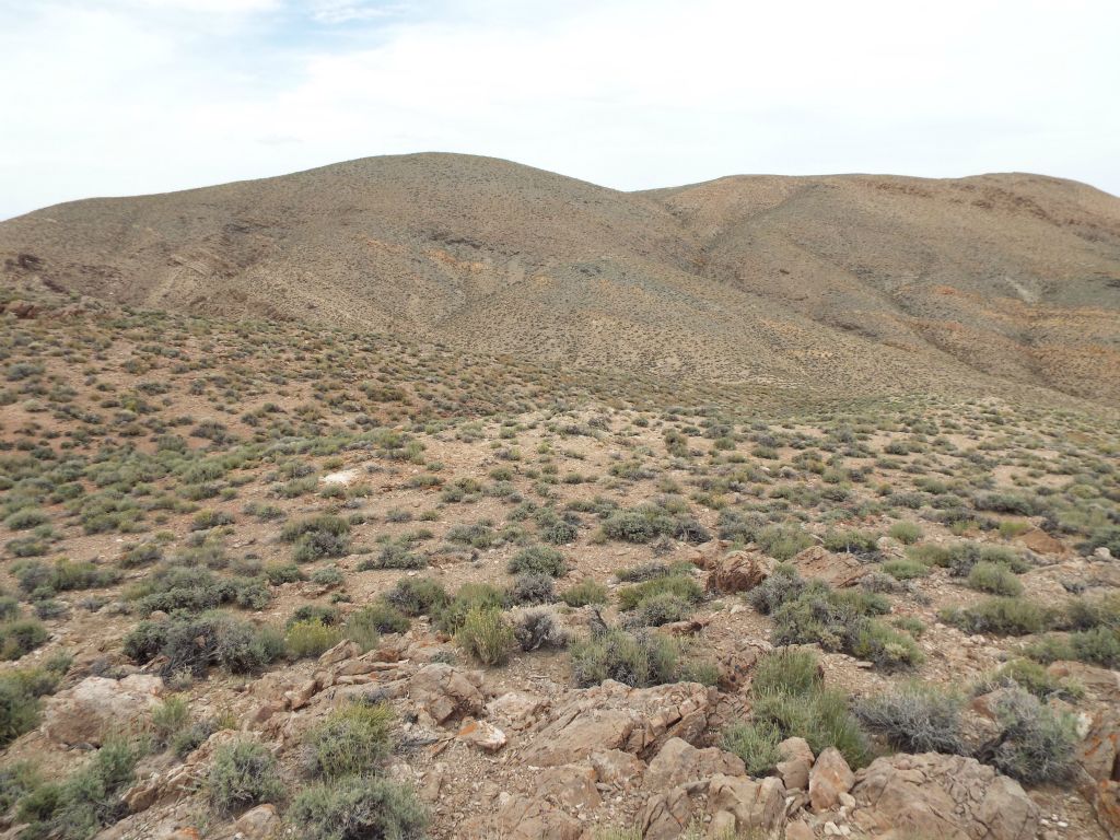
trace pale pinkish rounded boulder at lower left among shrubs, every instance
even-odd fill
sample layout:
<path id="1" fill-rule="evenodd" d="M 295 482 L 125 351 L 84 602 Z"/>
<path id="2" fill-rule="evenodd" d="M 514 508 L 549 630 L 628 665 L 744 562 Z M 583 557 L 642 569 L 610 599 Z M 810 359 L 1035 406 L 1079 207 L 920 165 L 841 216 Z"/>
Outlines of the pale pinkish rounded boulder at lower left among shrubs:
<path id="1" fill-rule="evenodd" d="M 87 676 L 47 700 L 43 730 L 57 744 L 100 746 L 106 734 L 147 719 L 162 690 L 164 681 L 149 674 Z"/>

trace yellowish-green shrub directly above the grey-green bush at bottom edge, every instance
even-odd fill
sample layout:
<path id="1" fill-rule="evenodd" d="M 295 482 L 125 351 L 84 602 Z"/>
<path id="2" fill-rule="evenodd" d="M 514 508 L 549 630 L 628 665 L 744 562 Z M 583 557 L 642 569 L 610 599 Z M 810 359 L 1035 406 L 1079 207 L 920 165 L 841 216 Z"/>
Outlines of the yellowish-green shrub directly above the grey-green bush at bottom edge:
<path id="1" fill-rule="evenodd" d="M 390 753 L 393 709 L 352 702 L 333 711 L 304 739 L 307 764 L 326 778 L 371 773 Z"/>

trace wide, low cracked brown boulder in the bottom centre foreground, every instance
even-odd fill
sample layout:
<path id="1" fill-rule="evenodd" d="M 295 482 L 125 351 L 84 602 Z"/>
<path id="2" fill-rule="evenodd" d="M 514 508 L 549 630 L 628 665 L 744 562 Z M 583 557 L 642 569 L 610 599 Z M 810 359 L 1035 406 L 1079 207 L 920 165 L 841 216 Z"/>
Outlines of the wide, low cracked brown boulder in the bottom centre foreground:
<path id="1" fill-rule="evenodd" d="M 633 689 L 607 680 L 573 691 L 532 730 L 526 764 L 572 764 L 592 750 L 620 749 L 641 758 L 670 738 L 697 743 L 715 711 L 717 692 L 694 682 Z"/>

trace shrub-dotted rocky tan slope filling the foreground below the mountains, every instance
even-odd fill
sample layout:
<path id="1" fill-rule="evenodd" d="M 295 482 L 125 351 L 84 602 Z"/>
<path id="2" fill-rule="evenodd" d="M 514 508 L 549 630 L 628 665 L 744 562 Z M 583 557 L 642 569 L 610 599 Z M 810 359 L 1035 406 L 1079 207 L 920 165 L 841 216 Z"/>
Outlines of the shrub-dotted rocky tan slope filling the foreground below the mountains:
<path id="1" fill-rule="evenodd" d="M 1108 413 L 7 317 L 4 837 L 1120 832 Z"/>

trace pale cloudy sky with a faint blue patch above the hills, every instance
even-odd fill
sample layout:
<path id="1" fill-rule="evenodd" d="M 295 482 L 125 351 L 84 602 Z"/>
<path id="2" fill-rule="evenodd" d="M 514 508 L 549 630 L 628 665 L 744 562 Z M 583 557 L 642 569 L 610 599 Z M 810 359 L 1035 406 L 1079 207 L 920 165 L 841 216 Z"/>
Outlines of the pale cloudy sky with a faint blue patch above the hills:
<path id="1" fill-rule="evenodd" d="M 0 0 L 0 218 L 371 155 L 1120 194 L 1117 0 Z"/>

